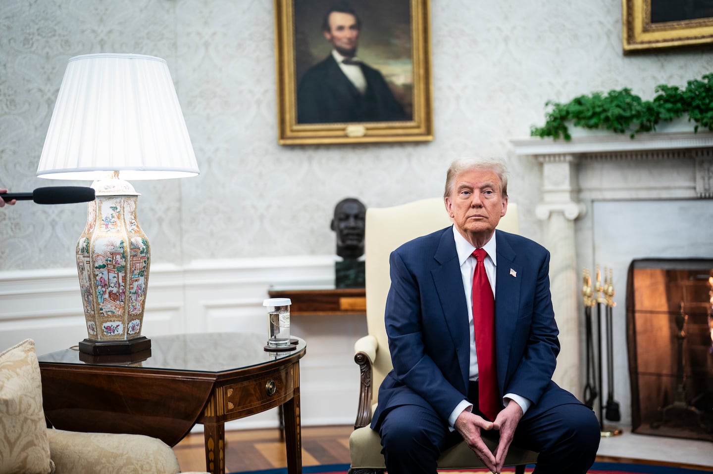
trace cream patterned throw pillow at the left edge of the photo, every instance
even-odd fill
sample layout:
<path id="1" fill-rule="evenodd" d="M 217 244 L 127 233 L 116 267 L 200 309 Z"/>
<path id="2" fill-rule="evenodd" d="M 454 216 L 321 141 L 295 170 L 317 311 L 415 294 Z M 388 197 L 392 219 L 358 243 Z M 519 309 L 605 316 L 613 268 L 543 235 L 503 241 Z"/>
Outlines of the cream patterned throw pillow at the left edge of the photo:
<path id="1" fill-rule="evenodd" d="M 42 380 L 35 342 L 0 353 L 0 474 L 50 474 Z"/>

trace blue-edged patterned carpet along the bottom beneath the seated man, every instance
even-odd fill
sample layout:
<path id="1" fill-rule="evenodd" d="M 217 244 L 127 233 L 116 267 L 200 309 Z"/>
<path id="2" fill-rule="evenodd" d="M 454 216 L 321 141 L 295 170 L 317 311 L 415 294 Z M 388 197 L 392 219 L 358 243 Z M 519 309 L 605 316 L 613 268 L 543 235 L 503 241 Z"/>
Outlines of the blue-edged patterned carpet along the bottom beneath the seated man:
<path id="1" fill-rule="evenodd" d="M 346 474 L 349 470 L 348 464 L 312 465 L 302 468 L 304 474 Z M 439 470 L 443 474 L 481 474 L 489 473 L 487 469 L 473 470 Z M 531 473 L 532 467 L 528 467 L 525 473 Z M 515 470 L 511 468 L 503 469 L 503 474 L 513 474 Z M 708 470 L 697 470 L 687 468 L 674 468 L 662 465 L 630 464 L 630 463 L 594 463 L 588 474 L 704 474 L 710 473 Z M 287 474 L 287 468 L 242 471 L 232 474 Z"/>

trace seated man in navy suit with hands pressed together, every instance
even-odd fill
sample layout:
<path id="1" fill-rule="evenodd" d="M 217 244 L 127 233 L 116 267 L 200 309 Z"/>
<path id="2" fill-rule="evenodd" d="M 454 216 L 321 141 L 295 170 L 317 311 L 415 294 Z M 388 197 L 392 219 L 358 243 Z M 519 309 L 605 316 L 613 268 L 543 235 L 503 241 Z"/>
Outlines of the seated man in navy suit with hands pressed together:
<path id="1" fill-rule="evenodd" d="M 461 439 L 495 473 L 511 443 L 540 453 L 535 473 L 586 473 L 595 460 L 600 427 L 594 412 L 552 381 L 560 344 L 550 253 L 496 231 L 508 209 L 507 186 L 503 164 L 456 160 L 444 193 L 453 226 L 391 253 L 385 318 L 394 369 L 379 388 L 371 421 L 389 474 L 434 474 L 438 455 Z M 481 248 L 486 256 L 478 265 L 484 264 L 484 286 L 489 283 L 495 297 L 498 406 L 491 418 L 478 404 L 481 352 L 473 305 L 479 302 L 471 300 L 471 253 Z M 494 453 L 483 436 L 499 438 Z"/>

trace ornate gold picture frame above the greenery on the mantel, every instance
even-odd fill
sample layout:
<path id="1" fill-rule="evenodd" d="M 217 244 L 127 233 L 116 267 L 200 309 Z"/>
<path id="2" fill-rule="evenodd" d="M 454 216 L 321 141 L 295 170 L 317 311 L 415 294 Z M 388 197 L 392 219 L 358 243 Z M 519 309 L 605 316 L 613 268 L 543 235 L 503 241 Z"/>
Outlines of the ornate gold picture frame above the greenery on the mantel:
<path id="1" fill-rule="evenodd" d="M 713 11 L 688 3 L 687 9 L 682 0 L 622 0 L 624 53 L 713 43 Z"/>

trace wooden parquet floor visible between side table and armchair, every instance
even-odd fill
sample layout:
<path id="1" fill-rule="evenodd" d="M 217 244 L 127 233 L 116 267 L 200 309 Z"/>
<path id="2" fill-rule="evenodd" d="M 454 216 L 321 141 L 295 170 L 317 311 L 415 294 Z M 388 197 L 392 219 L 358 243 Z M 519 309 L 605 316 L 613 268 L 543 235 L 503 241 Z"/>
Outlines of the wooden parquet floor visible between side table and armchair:
<path id="1" fill-rule="evenodd" d="M 302 426 L 302 465 L 349 464 L 354 426 Z M 183 471 L 205 470 L 203 433 L 190 433 L 173 447 Z M 279 430 L 225 432 L 225 472 L 284 468 L 287 457 Z"/>

